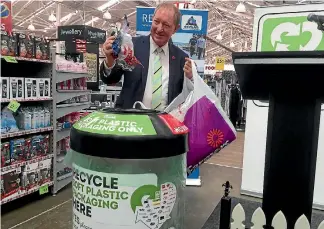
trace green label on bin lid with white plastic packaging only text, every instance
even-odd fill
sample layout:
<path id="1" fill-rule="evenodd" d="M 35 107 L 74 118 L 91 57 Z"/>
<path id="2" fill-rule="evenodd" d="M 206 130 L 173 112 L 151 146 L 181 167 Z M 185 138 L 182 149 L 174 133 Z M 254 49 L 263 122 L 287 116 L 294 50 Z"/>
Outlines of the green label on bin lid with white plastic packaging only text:
<path id="1" fill-rule="evenodd" d="M 147 115 L 110 114 L 94 112 L 81 119 L 75 129 L 120 136 L 156 135 L 156 131 Z"/>

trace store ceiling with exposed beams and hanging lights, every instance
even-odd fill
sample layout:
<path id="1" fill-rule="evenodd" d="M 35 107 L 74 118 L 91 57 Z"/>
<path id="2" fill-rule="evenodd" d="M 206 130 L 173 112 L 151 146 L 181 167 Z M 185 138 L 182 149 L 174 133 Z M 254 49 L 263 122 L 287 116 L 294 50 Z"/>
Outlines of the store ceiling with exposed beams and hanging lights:
<path id="1" fill-rule="evenodd" d="M 288 1 L 296 4 L 300 1 Z M 124 14 L 128 15 L 131 34 L 135 34 L 136 6 L 156 6 L 159 0 L 127 1 L 127 0 L 74 0 L 74 1 L 48 1 L 48 0 L 12 0 L 14 30 L 30 33 L 27 29 L 31 23 L 35 27 L 35 35 L 53 38 L 56 37 L 56 22 L 50 22 L 51 13 L 56 16 L 61 25 L 87 24 L 108 30 L 111 24 L 120 21 Z M 175 2 L 175 1 L 172 1 Z M 180 1 L 181 2 L 181 1 Z M 231 62 L 232 51 L 250 50 L 252 42 L 253 14 L 256 7 L 267 7 L 287 4 L 287 1 L 244 1 L 245 13 L 237 13 L 238 0 L 191 0 L 196 9 L 208 9 L 208 42 L 206 62 L 214 63 L 215 56 L 224 56 Z M 309 2 L 309 1 L 308 1 Z M 106 11 L 111 19 L 103 19 Z M 61 18 L 57 12 L 61 12 Z M 60 20 L 59 20 L 60 19 Z M 222 39 L 217 40 L 221 33 Z M 230 47 L 230 43 L 234 47 Z"/>

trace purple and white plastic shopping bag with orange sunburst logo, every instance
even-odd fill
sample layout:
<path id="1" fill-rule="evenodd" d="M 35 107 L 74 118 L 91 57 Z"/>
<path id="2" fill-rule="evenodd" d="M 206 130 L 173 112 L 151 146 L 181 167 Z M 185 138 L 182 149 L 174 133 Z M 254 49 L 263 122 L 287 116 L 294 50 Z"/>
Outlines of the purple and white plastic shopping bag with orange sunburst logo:
<path id="1" fill-rule="evenodd" d="M 197 73 L 192 62 L 193 83 L 184 79 L 182 93 L 165 109 L 189 128 L 187 173 L 236 139 L 236 131 L 220 101 Z M 189 91 L 193 84 L 193 90 Z"/>

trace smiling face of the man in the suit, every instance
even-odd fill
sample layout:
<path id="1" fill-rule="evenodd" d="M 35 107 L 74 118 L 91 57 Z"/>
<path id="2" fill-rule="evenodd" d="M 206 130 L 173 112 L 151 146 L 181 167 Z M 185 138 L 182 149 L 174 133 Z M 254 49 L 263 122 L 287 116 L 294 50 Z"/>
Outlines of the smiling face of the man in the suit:
<path id="1" fill-rule="evenodd" d="M 171 38 L 171 36 L 177 31 L 179 25 L 174 25 L 174 12 L 173 10 L 159 9 L 153 18 L 151 27 L 151 36 L 153 41 L 162 47 Z"/>

